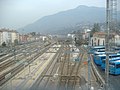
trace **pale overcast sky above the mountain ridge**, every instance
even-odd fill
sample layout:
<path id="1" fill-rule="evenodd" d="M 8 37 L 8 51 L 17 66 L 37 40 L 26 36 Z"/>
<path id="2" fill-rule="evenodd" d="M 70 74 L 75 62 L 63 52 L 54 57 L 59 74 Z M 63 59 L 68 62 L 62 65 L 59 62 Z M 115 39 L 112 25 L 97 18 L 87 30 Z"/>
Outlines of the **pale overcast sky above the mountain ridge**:
<path id="1" fill-rule="evenodd" d="M 0 0 L 0 28 L 18 29 L 79 5 L 105 7 L 106 0 Z M 120 0 L 119 0 L 120 1 Z"/>

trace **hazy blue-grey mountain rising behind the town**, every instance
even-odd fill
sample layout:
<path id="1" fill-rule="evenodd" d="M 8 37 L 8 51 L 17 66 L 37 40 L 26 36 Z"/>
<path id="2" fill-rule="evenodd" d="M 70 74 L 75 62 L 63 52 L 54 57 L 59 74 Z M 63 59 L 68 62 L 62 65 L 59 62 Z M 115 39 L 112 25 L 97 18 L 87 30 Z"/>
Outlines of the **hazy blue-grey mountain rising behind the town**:
<path id="1" fill-rule="evenodd" d="M 80 5 L 75 9 L 45 16 L 21 29 L 25 32 L 67 33 L 79 24 L 105 22 L 105 8 Z"/>

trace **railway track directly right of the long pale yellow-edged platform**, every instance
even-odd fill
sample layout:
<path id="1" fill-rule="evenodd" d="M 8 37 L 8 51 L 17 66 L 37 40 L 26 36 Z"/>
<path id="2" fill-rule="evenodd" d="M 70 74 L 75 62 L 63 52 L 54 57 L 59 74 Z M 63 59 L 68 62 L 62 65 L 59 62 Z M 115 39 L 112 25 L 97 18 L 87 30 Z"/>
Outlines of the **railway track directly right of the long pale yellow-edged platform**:
<path id="1" fill-rule="evenodd" d="M 54 67 L 58 61 L 58 58 L 60 58 L 61 53 L 61 47 L 56 52 L 54 57 L 51 59 L 47 67 L 44 69 L 44 71 L 41 73 L 41 75 L 38 77 L 36 82 L 32 85 L 30 90 L 45 90 L 48 86 L 48 83 L 50 82 L 50 78 L 53 77 Z M 44 83 L 44 84 L 43 84 Z"/>

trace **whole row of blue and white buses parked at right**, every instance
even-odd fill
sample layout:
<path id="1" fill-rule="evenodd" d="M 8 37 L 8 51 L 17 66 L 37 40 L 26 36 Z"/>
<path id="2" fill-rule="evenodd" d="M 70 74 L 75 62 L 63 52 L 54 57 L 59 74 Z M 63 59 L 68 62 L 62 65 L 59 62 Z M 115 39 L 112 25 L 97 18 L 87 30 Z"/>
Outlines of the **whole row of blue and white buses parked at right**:
<path id="1" fill-rule="evenodd" d="M 120 47 L 112 48 L 116 53 L 109 55 L 109 73 L 112 75 L 120 75 Z M 94 63 L 103 71 L 106 67 L 105 46 L 95 46 L 90 48 Z"/>

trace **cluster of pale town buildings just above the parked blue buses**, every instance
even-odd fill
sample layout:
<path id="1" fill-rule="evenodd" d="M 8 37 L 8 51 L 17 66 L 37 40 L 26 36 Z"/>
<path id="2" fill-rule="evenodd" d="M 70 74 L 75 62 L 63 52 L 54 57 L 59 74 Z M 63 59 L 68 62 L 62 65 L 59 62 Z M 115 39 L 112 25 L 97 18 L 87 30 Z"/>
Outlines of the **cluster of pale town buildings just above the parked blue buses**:
<path id="1" fill-rule="evenodd" d="M 73 33 L 68 34 L 67 36 L 76 40 L 78 42 L 82 42 L 84 44 L 90 44 L 91 46 L 101 46 L 105 45 L 106 33 L 104 31 L 95 32 L 91 37 L 90 29 L 83 29 L 81 32 L 74 31 Z M 117 45 L 120 46 L 120 35 L 117 33 L 110 33 L 109 35 L 109 43 L 111 46 Z"/>

